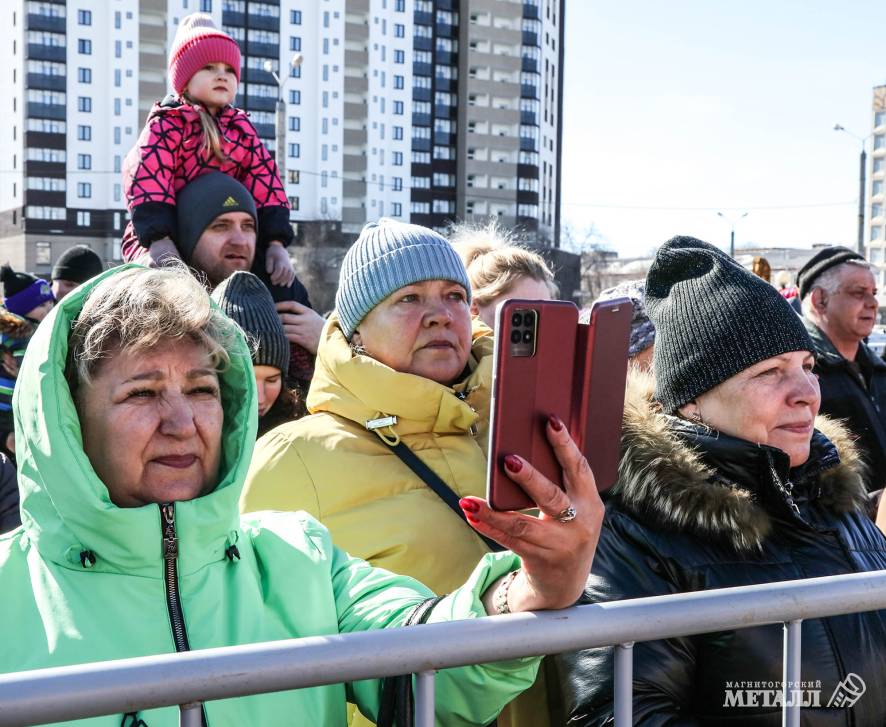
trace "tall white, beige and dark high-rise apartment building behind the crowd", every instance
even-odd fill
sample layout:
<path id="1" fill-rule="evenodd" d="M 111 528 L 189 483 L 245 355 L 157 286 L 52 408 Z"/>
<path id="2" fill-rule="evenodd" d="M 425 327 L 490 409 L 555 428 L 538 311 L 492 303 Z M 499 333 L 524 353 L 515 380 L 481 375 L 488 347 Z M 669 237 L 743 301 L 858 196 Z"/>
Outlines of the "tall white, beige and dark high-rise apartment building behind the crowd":
<path id="1" fill-rule="evenodd" d="M 122 161 L 168 91 L 178 22 L 240 44 L 240 89 L 280 161 L 298 239 L 382 216 L 492 217 L 556 246 L 565 0 L 6 0 L 0 258 L 48 272 L 119 255 Z M 295 63 L 293 60 L 295 59 Z"/>

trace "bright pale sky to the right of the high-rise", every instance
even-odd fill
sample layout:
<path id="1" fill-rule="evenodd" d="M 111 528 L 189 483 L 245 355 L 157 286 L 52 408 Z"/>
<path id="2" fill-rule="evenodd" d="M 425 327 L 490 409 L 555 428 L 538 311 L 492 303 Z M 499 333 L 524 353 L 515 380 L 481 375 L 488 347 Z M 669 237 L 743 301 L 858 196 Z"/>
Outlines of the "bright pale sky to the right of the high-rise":
<path id="1" fill-rule="evenodd" d="M 622 257 L 675 234 L 854 245 L 884 0 L 567 0 L 563 220 Z M 868 146 L 870 150 L 870 146 Z"/>

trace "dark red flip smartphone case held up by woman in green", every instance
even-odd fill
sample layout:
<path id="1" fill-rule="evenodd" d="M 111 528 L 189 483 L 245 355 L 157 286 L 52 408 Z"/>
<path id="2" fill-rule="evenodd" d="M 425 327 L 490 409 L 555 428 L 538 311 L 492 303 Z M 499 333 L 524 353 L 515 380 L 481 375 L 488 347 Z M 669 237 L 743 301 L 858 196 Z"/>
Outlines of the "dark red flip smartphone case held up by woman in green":
<path id="1" fill-rule="evenodd" d="M 515 357 L 510 348 L 514 314 L 525 310 L 538 316 L 535 351 Z M 596 304 L 590 325 L 578 322 L 578 309 L 569 302 L 510 300 L 499 306 L 487 475 L 493 509 L 535 507 L 507 476 L 506 454 L 520 455 L 562 487 L 545 432 L 550 414 L 569 427 L 598 489 L 615 483 L 632 314 L 627 298 Z"/>

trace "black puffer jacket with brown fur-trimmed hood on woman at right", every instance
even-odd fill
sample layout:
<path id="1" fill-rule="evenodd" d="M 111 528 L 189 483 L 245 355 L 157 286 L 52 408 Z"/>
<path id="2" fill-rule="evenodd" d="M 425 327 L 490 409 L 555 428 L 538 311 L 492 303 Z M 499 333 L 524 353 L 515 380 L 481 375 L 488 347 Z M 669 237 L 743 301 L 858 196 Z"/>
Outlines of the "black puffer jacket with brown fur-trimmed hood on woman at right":
<path id="1" fill-rule="evenodd" d="M 780 450 L 659 414 L 648 396 L 633 386 L 628 398 L 621 476 L 584 602 L 886 569 L 886 537 L 859 509 L 861 464 L 840 426 L 820 418 L 827 436 L 817 431 L 809 461 L 790 470 Z M 782 643 L 781 625 L 637 643 L 636 723 L 781 725 L 779 706 L 725 705 L 730 683 L 780 682 Z M 886 724 L 886 611 L 805 621 L 802 653 L 803 680 L 821 682 L 821 707 L 804 709 L 803 725 Z M 568 724 L 610 724 L 612 649 L 566 654 L 557 667 Z M 851 709 L 828 708 L 850 672 L 867 692 Z"/>

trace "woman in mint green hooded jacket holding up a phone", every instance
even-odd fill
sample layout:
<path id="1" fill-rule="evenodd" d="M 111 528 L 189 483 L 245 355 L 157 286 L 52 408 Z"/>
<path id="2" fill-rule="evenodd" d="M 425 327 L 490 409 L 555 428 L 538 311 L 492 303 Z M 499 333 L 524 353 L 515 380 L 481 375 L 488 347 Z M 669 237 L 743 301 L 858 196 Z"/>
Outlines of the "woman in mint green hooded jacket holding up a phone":
<path id="1" fill-rule="evenodd" d="M 184 270 L 118 268 L 65 298 L 32 339 L 15 395 L 22 527 L 0 538 L 0 672 L 396 627 L 432 595 L 335 548 L 304 513 L 241 518 L 256 407 L 242 334 Z M 521 462 L 515 481 L 547 496 L 548 514 L 492 513 L 472 498 L 477 526 L 514 553 L 485 556 L 430 621 L 560 608 L 581 592 L 602 508 L 565 429 L 550 437 L 567 492 Z M 579 512 L 568 524 L 550 514 L 564 504 Z M 438 722 L 490 721 L 536 668 L 440 672 Z M 348 699 L 374 717 L 379 687 L 207 702 L 204 720 L 344 725 Z M 162 727 L 178 713 L 135 719 Z"/>

